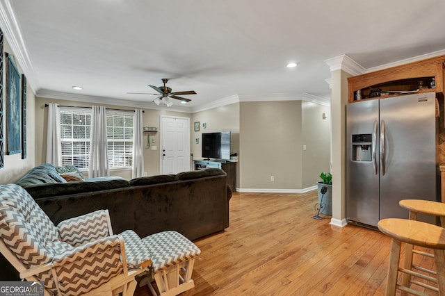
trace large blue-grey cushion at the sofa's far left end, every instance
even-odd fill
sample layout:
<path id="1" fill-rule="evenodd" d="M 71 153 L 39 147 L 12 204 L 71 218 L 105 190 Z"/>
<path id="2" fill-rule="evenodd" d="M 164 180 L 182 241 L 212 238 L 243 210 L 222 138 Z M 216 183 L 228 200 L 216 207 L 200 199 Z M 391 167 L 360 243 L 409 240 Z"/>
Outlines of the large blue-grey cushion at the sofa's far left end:
<path id="1" fill-rule="evenodd" d="M 26 175 L 22 176 L 19 181 L 15 182 L 17 185 L 26 188 L 37 184 L 44 183 L 65 183 L 60 174 L 56 171 L 56 167 L 49 163 L 38 165 L 30 170 Z"/>

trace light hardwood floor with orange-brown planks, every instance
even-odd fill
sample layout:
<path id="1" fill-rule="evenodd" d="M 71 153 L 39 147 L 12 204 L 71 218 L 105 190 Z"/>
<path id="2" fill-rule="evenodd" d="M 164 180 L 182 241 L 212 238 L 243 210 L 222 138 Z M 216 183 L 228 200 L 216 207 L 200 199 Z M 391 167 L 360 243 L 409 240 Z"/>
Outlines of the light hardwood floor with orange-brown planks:
<path id="1" fill-rule="evenodd" d="M 313 219 L 316 194 L 234 193 L 230 227 L 195 241 L 195 288 L 181 295 L 385 295 L 389 238 Z"/>

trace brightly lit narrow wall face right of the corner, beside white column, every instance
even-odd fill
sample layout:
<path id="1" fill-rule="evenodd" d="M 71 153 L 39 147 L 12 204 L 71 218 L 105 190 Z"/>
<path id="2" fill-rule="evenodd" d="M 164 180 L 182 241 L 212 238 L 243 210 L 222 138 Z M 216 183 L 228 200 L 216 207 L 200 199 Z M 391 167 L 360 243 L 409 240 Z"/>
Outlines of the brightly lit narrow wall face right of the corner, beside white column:
<path id="1" fill-rule="evenodd" d="M 323 113 L 326 118 L 323 119 Z M 330 172 L 330 107 L 302 101 L 302 188 L 314 186 L 321 172 Z"/>

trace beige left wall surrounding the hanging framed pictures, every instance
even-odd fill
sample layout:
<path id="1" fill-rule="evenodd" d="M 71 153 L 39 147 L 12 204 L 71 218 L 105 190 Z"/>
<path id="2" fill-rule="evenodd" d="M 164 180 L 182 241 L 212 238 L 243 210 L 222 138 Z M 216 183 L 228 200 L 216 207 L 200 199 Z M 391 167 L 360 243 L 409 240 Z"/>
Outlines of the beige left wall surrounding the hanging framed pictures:
<path id="1" fill-rule="evenodd" d="M 11 51 L 10 46 L 8 44 L 8 40 L 3 38 L 3 51 L 8 52 L 8 54 L 14 55 Z M 3 54 L 3 53 L 2 53 Z M 4 58 L 4 55 L 3 55 Z M 3 60 L 3 77 L 5 77 L 6 71 L 6 60 Z M 22 67 L 17 64 L 17 60 L 15 60 L 15 65 L 19 69 L 19 72 L 22 74 Z M 6 79 L 3 79 L 6 82 Z M 33 90 L 28 83 L 28 87 L 26 89 L 26 121 L 27 121 L 27 129 L 26 129 L 26 140 L 28 142 L 26 147 L 26 159 L 22 159 L 22 154 L 14 154 L 14 155 L 6 155 L 6 118 L 8 116 L 8 106 L 6 105 L 6 92 L 5 86 L 3 85 L 3 112 L 5 115 L 3 116 L 3 151 L 4 151 L 4 167 L 0 168 L 0 184 L 5 183 L 13 183 L 17 181 L 21 176 L 26 174 L 33 166 L 35 161 L 35 150 L 34 150 L 34 141 L 35 141 L 35 127 L 34 127 L 34 108 L 35 108 L 35 96 L 33 94 Z"/>

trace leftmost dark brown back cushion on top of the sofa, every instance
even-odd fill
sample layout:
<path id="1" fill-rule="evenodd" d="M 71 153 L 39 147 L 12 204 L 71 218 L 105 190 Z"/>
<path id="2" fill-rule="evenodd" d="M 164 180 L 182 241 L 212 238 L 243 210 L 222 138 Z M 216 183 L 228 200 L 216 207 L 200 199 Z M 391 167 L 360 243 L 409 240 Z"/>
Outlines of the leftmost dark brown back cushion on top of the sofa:
<path id="1" fill-rule="evenodd" d="M 87 179 L 88 180 L 88 179 Z M 115 188 L 129 187 L 129 181 L 115 178 L 108 181 L 80 181 L 68 183 L 41 184 L 26 187 L 26 191 L 34 198 L 74 195 L 77 193 L 94 192 Z"/>

